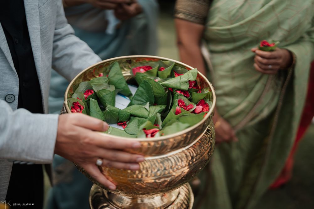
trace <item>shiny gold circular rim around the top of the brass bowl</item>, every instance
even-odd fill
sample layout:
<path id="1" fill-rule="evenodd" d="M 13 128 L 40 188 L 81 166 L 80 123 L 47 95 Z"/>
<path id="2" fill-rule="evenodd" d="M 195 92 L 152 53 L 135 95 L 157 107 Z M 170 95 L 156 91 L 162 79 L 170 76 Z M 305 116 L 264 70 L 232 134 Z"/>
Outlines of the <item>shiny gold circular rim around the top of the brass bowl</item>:
<path id="1" fill-rule="evenodd" d="M 70 90 L 70 87 L 73 85 L 73 82 L 80 76 L 82 75 L 85 71 L 88 71 L 90 70 L 91 68 L 93 67 L 96 67 L 97 65 L 100 65 L 101 63 L 105 63 L 105 62 L 110 62 L 110 61 L 115 61 L 115 60 L 121 60 L 121 59 L 127 59 L 127 58 L 152 58 L 152 59 L 160 59 L 160 60 L 167 60 L 167 61 L 172 61 L 172 62 L 175 62 L 176 64 L 179 64 L 179 65 L 182 65 L 182 66 L 185 66 L 189 69 L 193 69 L 193 67 L 189 66 L 189 65 L 186 65 L 182 62 L 179 62 L 177 60 L 172 60 L 172 59 L 169 59 L 169 58 L 165 58 L 165 57 L 159 57 L 159 56 L 151 56 L 151 55 L 130 55 L 130 56 L 121 56 L 121 57 L 114 57 L 114 58 L 110 58 L 110 59 L 107 59 L 107 60 L 103 60 L 103 61 L 100 61 L 94 65 L 91 65 L 89 66 L 88 68 L 84 69 L 83 71 L 81 71 L 77 76 L 75 76 L 73 78 L 73 80 L 69 83 L 68 87 L 67 87 L 67 90 L 65 91 L 65 94 L 64 94 L 64 106 L 67 110 L 67 112 L 70 114 L 72 113 L 70 108 L 68 107 L 68 92 Z M 197 124 L 195 124 L 194 126 L 191 126 L 187 129 L 184 129 L 182 131 L 179 131 L 177 133 L 173 133 L 171 135 L 166 135 L 166 136 L 160 136 L 160 137 L 156 137 L 156 138 L 129 138 L 129 137 L 121 137 L 121 136 L 112 136 L 110 134 L 107 134 L 107 133 L 101 133 L 99 132 L 101 135 L 104 135 L 106 137 L 115 137 L 115 138 L 121 138 L 121 139 L 125 139 L 125 140 L 135 140 L 135 141 L 139 141 L 139 142 L 152 142 L 152 141 L 163 141 L 165 139 L 169 139 L 169 138 L 174 138 L 174 137 L 178 137 L 180 135 L 183 135 L 184 133 L 187 133 L 189 131 L 192 131 L 194 128 L 198 127 L 199 125 L 201 125 L 202 123 L 204 123 L 206 120 L 208 120 L 209 117 L 211 117 L 212 113 L 214 112 L 214 107 L 216 105 L 216 95 L 215 95 L 215 91 L 214 91 L 214 87 L 212 86 L 212 84 L 208 81 L 208 79 L 200 72 L 198 72 L 198 75 L 200 75 L 209 85 L 211 91 L 213 92 L 213 104 L 212 104 L 212 107 L 209 109 L 208 113 L 206 114 L 206 116 L 200 121 L 198 122 Z"/>

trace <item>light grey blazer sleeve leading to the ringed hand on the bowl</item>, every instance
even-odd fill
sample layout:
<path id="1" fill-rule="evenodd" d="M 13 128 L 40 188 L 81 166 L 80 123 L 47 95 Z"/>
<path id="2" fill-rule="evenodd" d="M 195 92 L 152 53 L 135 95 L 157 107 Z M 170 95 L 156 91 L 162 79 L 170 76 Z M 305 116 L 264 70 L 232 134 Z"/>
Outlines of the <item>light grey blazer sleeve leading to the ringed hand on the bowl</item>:
<path id="1" fill-rule="evenodd" d="M 58 115 L 13 111 L 0 100 L 0 159 L 51 163 L 57 137 Z"/>

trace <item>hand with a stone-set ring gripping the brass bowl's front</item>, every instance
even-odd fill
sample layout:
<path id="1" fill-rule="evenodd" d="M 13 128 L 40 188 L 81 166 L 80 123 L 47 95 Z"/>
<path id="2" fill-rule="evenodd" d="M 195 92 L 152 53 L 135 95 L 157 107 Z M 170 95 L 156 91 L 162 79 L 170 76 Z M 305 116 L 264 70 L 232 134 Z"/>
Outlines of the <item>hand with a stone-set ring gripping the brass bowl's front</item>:
<path id="1" fill-rule="evenodd" d="M 104 137 L 96 131 L 104 132 L 108 124 L 81 113 L 59 116 L 55 154 L 79 164 L 100 184 L 115 190 L 116 186 L 101 174 L 95 164 L 103 159 L 106 167 L 138 170 L 142 155 L 130 154 L 124 149 L 139 148 L 141 144 L 133 140 Z"/>

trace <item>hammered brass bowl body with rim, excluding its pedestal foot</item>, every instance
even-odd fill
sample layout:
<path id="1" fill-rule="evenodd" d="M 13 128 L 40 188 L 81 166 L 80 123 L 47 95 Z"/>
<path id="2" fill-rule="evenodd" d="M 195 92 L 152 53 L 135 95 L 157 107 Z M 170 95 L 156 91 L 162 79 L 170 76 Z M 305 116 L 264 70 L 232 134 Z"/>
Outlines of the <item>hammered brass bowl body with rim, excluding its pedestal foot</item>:
<path id="1" fill-rule="evenodd" d="M 85 69 L 73 79 L 66 90 L 62 112 L 71 113 L 67 100 L 79 83 L 95 78 L 95 76 L 105 71 L 112 62 L 118 61 L 127 82 L 134 83 L 133 76 L 130 73 L 131 66 L 138 62 L 158 60 L 170 60 L 180 67 L 188 70 L 192 69 L 191 66 L 176 60 L 157 56 L 134 55 L 104 60 Z M 201 73 L 198 73 L 197 83 L 202 88 L 210 88 L 213 92 L 213 105 L 208 114 L 196 125 L 171 135 L 156 138 L 119 137 L 141 142 L 141 148 L 127 151 L 143 154 L 145 161 L 140 163 L 140 170 L 138 171 L 99 167 L 102 173 L 117 185 L 116 190 L 110 192 L 132 198 L 160 196 L 175 191 L 186 184 L 205 167 L 213 153 L 215 144 L 212 116 L 216 96 L 213 86 Z M 105 133 L 100 134 L 108 136 Z M 79 165 L 76 166 L 95 184 L 106 189 L 91 178 Z"/>

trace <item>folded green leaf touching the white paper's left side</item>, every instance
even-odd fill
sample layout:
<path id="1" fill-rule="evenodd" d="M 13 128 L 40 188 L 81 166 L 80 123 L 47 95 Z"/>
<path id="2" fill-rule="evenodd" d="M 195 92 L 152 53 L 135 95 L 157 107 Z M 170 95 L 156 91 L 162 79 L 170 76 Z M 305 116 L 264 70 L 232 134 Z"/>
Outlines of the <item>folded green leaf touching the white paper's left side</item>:
<path id="1" fill-rule="evenodd" d="M 93 90 L 96 92 L 100 103 L 106 107 L 106 104 L 115 106 L 116 104 L 116 88 L 113 85 L 108 84 L 94 84 Z"/>

